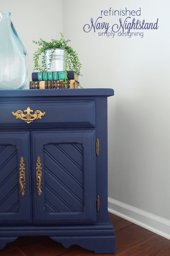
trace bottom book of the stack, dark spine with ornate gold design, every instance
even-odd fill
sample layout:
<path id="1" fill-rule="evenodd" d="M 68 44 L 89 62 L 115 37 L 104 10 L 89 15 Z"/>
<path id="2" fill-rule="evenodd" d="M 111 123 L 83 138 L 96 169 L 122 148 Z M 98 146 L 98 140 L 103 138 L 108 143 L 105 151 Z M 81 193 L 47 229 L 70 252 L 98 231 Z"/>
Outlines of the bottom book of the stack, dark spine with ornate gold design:
<path id="1" fill-rule="evenodd" d="M 76 80 L 67 80 L 67 89 L 78 88 Z M 66 89 L 65 80 L 30 81 L 29 89 Z"/>

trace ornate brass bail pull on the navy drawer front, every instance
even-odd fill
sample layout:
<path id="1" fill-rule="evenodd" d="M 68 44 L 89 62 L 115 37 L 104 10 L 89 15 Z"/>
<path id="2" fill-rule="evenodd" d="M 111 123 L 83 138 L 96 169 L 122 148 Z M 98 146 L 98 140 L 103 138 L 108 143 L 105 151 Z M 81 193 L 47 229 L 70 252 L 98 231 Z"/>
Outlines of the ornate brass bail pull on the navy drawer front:
<path id="1" fill-rule="evenodd" d="M 46 112 L 42 113 L 40 110 L 36 110 L 34 112 L 34 114 L 32 115 L 32 114 L 30 114 L 30 112 L 33 112 L 33 110 L 31 110 L 29 107 L 27 108 L 27 110 L 24 110 L 24 112 L 27 112 L 27 114 L 24 115 L 23 111 L 21 111 L 21 110 L 17 110 L 15 113 L 12 112 L 12 114 L 14 116 L 16 116 L 16 119 L 19 118 L 27 123 L 31 123 L 32 121 L 34 121 L 38 118 L 41 119 L 42 118 L 41 116 L 44 116 L 46 114 Z M 31 118 L 31 117 L 33 117 L 33 118 Z"/>

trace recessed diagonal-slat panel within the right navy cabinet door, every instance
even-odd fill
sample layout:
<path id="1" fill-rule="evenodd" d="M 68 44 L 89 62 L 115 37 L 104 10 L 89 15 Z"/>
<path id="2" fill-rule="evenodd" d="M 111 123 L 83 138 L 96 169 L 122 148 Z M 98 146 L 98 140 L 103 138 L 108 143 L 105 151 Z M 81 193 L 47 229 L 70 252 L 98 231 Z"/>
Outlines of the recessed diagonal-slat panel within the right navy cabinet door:
<path id="1" fill-rule="evenodd" d="M 82 144 L 44 145 L 46 212 L 83 211 Z"/>

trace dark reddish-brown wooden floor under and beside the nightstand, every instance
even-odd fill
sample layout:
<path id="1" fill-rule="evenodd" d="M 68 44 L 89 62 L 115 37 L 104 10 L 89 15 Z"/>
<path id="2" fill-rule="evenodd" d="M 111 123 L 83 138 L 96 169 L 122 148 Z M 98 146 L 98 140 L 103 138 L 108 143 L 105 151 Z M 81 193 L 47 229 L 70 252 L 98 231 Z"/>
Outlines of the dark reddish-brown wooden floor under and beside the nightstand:
<path id="1" fill-rule="evenodd" d="M 48 236 L 19 237 L 0 250 L 0 256 L 83 256 L 83 255 L 121 255 L 121 256 L 170 256 L 170 240 L 163 238 L 130 221 L 114 214 L 110 218 L 115 228 L 116 253 L 94 254 L 77 245 L 64 248 Z"/>

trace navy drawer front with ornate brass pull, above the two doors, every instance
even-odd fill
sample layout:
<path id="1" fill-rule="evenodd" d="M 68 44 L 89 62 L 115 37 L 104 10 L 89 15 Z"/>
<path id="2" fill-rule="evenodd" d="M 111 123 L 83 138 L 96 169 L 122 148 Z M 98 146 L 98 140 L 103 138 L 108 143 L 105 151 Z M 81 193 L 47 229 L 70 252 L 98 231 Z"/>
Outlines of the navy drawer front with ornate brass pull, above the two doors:
<path id="1" fill-rule="evenodd" d="M 31 121 L 27 108 L 36 115 L 35 111 L 45 112 L 40 118 Z M 17 111 L 23 114 L 17 114 Z M 12 114 L 14 113 L 14 115 Z M 28 111 L 29 112 L 29 111 Z M 16 115 L 15 115 L 16 113 Z M 23 117 L 23 115 L 26 115 Z M 30 118 L 30 123 L 19 118 Z M 28 121 L 28 120 L 27 120 Z M 0 129 L 3 128 L 55 128 L 55 127 L 95 127 L 94 100 L 55 100 L 55 101 L 13 101 L 0 103 Z"/>

